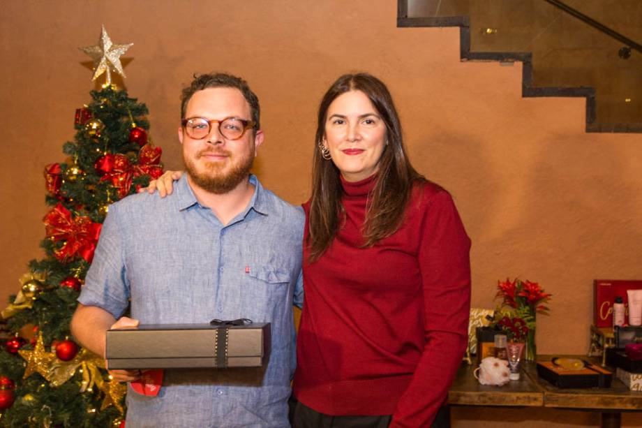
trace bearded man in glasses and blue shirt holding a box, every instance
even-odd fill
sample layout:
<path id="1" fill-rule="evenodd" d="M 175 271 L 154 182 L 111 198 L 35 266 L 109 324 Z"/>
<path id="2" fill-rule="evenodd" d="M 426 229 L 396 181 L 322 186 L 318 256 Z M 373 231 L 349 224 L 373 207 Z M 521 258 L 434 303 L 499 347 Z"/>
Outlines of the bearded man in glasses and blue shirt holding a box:
<path id="1" fill-rule="evenodd" d="M 139 193 L 110 205 L 72 331 L 104 356 L 109 328 L 213 318 L 271 323 L 267 369 L 165 370 L 156 397 L 128 388 L 127 427 L 289 427 L 304 214 L 249 172 L 264 135 L 257 96 L 244 80 L 200 75 L 181 100 L 187 174 L 173 198 Z M 129 304 L 130 318 L 123 316 Z"/>

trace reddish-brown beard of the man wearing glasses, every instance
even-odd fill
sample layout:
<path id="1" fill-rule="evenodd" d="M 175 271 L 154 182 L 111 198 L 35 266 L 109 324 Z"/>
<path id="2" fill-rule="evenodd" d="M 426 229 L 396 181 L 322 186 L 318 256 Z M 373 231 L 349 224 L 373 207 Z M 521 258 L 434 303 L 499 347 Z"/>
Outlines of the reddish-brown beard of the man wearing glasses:
<path id="1" fill-rule="evenodd" d="M 200 152 L 199 154 L 197 154 L 197 158 L 207 152 L 214 151 L 209 150 Z M 230 156 L 229 152 L 223 152 L 223 154 L 227 154 L 227 156 Z M 230 156 L 230 161 L 233 160 L 234 158 Z M 232 169 L 227 172 L 226 175 L 221 175 L 221 171 L 223 170 L 223 168 L 225 168 L 226 165 L 221 165 L 220 163 L 204 163 L 204 172 L 198 172 L 195 162 L 187 158 L 185 154 L 183 155 L 183 163 L 185 164 L 185 170 L 187 171 L 194 184 L 199 186 L 204 191 L 221 195 L 223 193 L 234 190 L 236 186 L 247 179 L 248 175 L 250 175 L 252 164 L 254 163 L 254 156 L 252 156 L 252 154 L 250 153 L 248 154 L 248 156 L 239 158 L 239 162 L 235 165 L 232 165 Z"/>

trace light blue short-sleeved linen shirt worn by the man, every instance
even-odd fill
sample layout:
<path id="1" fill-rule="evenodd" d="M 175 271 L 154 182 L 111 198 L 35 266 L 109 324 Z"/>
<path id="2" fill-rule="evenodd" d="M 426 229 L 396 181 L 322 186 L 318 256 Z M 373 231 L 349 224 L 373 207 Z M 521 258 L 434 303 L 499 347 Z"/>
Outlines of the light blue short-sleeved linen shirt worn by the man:
<path id="1" fill-rule="evenodd" d="M 142 324 L 271 323 L 267 369 L 165 370 L 156 397 L 128 389 L 127 427 L 289 427 L 292 304 L 301 306 L 304 213 L 262 188 L 223 226 L 186 175 L 174 195 L 131 195 L 103 223 L 78 301 Z"/>

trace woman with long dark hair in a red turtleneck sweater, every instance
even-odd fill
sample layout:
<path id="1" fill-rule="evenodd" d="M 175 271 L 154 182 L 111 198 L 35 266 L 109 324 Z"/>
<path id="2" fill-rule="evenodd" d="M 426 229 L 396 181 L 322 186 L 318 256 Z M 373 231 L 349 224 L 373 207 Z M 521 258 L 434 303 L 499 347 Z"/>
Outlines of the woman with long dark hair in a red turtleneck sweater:
<path id="1" fill-rule="evenodd" d="M 470 240 L 377 78 L 331 85 L 315 145 L 293 425 L 428 427 L 468 341 Z"/>

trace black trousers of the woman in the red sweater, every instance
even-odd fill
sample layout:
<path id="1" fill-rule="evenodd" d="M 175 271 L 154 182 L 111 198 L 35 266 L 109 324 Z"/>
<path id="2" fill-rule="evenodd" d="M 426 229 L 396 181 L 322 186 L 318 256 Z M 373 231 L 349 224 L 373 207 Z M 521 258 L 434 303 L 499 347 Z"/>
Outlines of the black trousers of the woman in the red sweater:
<path id="1" fill-rule="evenodd" d="M 290 423 L 292 428 L 387 428 L 391 415 L 382 416 L 331 416 L 319 413 L 290 398 Z M 430 428 L 449 428 L 450 411 L 447 406 L 439 409 Z M 428 428 L 428 427 L 417 427 Z"/>

